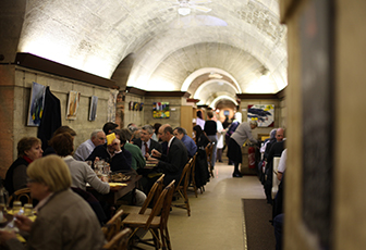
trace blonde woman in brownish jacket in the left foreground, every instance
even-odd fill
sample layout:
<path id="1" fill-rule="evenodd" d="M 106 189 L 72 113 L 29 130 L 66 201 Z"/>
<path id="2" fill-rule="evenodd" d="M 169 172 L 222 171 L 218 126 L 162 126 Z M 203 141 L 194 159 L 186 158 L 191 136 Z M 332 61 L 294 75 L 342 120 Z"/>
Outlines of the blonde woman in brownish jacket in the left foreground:
<path id="1" fill-rule="evenodd" d="M 70 189 L 71 175 L 62 159 L 38 159 L 29 164 L 27 175 L 30 195 L 39 200 L 35 222 L 15 215 L 17 228 L 29 234 L 27 246 L 14 232 L 0 230 L 0 241 L 10 250 L 101 249 L 105 237 L 98 220 L 86 201 Z"/>

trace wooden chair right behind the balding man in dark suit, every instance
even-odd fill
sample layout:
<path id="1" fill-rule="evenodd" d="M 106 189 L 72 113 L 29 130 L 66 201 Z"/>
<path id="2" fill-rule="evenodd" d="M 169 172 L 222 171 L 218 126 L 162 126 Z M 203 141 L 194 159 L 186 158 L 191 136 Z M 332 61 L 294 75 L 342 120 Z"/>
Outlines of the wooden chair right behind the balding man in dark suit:
<path id="1" fill-rule="evenodd" d="M 174 196 L 178 198 L 183 198 L 183 204 L 172 204 L 172 207 L 185 209 L 187 211 L 188 216 L 191 216 L 191 208 L 190 208 L 190 200 L 187 195 L 188 184 L 190 184 L 190 172 L 193 159 L 191 159 L 184 166 L 181 178 L 175 186 Z"/>

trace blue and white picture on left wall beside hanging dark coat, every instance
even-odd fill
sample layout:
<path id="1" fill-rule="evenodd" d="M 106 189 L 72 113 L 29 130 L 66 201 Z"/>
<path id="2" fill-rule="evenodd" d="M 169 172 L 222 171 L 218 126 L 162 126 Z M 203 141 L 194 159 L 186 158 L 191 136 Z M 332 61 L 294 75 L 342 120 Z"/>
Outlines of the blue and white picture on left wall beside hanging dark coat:
<path id="1" fill-rule="evenodd" d="M 27 126 L 39 126 L 45 107 L 45 91 L 46 86 L 32 84 Z"/>

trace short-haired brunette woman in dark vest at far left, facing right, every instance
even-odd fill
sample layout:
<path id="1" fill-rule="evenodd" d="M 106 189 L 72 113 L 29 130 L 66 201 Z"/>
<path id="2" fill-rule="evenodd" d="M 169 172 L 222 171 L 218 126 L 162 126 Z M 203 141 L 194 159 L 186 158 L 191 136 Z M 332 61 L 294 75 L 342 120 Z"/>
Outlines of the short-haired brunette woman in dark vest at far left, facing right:
<path id="1" fill-rule="evenodd" d="M 41 141 L 36 137 L 23 137 L 17 142 L 17 159 L 9 167 L 5 188 L 9 195 L 27 187 L 26 168 L 30 162 L 42 157 Z"/>

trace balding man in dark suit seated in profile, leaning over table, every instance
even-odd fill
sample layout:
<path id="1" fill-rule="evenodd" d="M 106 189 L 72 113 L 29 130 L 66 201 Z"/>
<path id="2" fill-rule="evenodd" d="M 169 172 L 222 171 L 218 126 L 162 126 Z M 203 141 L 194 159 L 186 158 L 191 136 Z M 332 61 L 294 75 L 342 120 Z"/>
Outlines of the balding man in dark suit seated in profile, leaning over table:
<path id="1" fill-rule="evenodd" d="M 173 179 L 176 183 L 181 178 L 185 164 L 188 162 L 187 150 L 184 143 L 173 136 L 173 128 L 169 124 L 164 124 L 159 128 L 159 137 L 168 142 L 167 154 L 152 150 L 152 158 L 159 160 L 157 168 L 166 174 L 164 185 L 170 184 Z"/>

